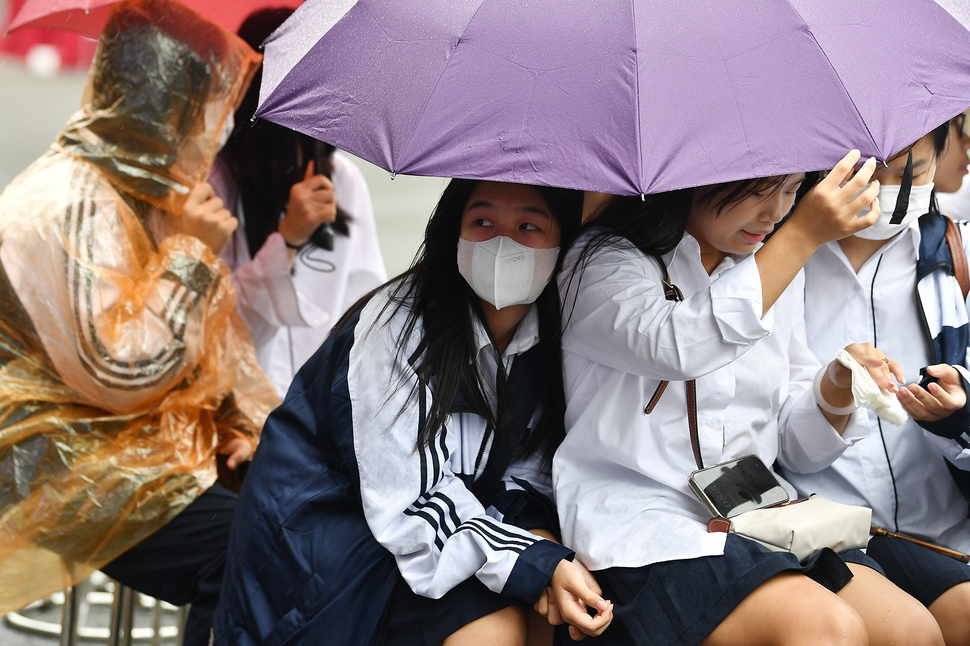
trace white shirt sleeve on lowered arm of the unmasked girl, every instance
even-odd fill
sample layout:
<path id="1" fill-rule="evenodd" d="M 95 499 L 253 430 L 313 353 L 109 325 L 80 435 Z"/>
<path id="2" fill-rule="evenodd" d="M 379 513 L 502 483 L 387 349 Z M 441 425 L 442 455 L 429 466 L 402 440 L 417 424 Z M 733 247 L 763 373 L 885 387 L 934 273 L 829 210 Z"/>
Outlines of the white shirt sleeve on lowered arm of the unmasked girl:
<path id="1" fill-rule="evenodd" d="M 779 451 L 781 465 L 799 474 L 822 471 L 849 446 L 869 436 L 869 417 L 858 410 L 849 417 L 840 434 L 829 423 L 815 400 L 813 384 L 822 364 L 805 340 L 805 275 L 798 272 L 776 304 L 792 312 L 792 337 L 789 341 L 789 381 L 779 413 Z"/>

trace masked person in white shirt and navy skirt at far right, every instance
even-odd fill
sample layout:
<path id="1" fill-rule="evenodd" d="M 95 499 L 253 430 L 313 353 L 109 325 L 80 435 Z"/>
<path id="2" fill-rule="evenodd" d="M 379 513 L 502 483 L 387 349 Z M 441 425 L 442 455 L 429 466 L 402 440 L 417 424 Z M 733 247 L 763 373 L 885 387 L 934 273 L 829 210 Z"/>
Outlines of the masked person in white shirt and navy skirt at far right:
<path id="1" fill-rule="evenodd" d="M 902 368 L 896 397 L 911 418 L 896 426 L 859 410 L 869 437 L 816 473 L 783 473 L 800 494 L 872 508 L 878 527 L 970 552 L 970 488 L 961 493 L 957 484 L 966 480 L 959 469 L 970 466 L 967 307 L 947 240 L 949 225 L 966 254 L 967 226 L 950 223 L 933 200 L 950 129 L 943 124 L 880 163 L 879 220 L 823 245 L 805 264 L 813 353 L 825 362 L 848 340 L 878 346 Z M 965 265 L 956 272 L 965 275 Z M 927 373 L 939 383 L 923 379 Z M 872 538 L 867 553 L 929 608 L 949 646 L 970 643 L 970 566 L 901 538 Z"/>

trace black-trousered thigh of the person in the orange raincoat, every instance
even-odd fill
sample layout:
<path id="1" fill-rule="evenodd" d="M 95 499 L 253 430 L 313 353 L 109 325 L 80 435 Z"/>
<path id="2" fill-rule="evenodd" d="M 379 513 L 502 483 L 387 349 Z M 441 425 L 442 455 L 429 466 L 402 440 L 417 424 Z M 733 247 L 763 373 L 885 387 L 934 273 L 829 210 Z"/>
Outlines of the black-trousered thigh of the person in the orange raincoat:
<path id="1" fill-rule="evenodd" d="M 200 577 L 225 563 L 236 494 L 214 484 L 168 525 L 101 570 L 151 597 L 192 601 Z M 214 585 L 214 584 L 213 584 Z"/>

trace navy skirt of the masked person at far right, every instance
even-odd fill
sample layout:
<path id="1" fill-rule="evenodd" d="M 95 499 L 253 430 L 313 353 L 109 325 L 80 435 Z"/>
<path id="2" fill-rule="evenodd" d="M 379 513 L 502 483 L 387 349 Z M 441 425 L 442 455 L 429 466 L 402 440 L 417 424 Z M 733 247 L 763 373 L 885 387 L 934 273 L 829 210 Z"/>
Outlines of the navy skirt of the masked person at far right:
<path id="1" fill-rule="evenodd" d="M 970 566 L 909 540 L 873 537 L 865 551 L 886 578 L 926 607 L 954 585 L 970 581 Z"/>

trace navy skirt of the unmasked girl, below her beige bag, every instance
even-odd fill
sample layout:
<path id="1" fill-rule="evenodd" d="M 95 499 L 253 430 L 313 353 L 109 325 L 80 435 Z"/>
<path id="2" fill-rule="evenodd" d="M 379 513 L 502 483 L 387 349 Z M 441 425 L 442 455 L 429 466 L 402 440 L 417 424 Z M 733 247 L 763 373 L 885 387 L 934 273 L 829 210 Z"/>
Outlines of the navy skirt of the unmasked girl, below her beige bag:
<path id="1" fill-rule="evenodd" d="M 603 598 L 613 601 L 613 623 L 593 641 L 636 646 L 695 646 L 755 588 L 783 571 L 798 571 L 832 592 L 852 579 L 846 563 L 882 573 L 859 550 L 824 549 L 805 565 L 790 552 L 772 552 L 754 540 L 727 535 L 722 556 L 664 561 L 641 568 L 599 569 Z"/>

